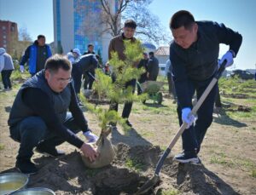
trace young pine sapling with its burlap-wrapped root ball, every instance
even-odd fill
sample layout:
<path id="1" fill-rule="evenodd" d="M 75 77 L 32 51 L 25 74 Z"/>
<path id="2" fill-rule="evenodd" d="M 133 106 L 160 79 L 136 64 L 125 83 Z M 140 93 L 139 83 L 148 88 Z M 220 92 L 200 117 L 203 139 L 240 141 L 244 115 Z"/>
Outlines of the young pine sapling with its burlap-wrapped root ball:
<path id="1" fill-rule="evenodd" d="M 101 71 L 96 71 L 96 91 L 101 95 L 106 95 L 110 101 L 118 103 L 124 103 L 125 101 L 142 100 L 144 95 L 138 97 L 132 93 L 132 89 L 125 89 L 125 83 L 133 78 L 140 77 L 143 73 L 143 69 L 137 69 L 134 65 L 137 64 L 138 60 L 143 58 L 143 49 L 139 41 L 131 43 L 125 41 L 125 60 L 119 60 L 118 54 L 113 52 L 112 59 L 109 63 L 113 66 L 113 72 L 116 76 L 116 81 L 113 83 L 111 77 L 105 75 Z M 80 95 L 81 100 L 84 97 Z M 94 112 L 99 119 L 99 126 L 102 129 L 100 138 L 96 141 L 97 152 L 100 153 L 96 161 L 90 163 L 88 158 L 82 156 L 85 166 L 90 168 L 100 168 L 106 166 L 113 161 L 114 150 L 111 142 L 107 139 L 107 136 L 111 132 L 111 126 L 108 123 L 121 123 L 125 129 L 129 127 L 125 123 L 125 119 L 119 116 L 119 113 L 114 110 L 104 109 L 100 106 L 92 106 L 91 104 L 85 103 L 87 109 Z"/>

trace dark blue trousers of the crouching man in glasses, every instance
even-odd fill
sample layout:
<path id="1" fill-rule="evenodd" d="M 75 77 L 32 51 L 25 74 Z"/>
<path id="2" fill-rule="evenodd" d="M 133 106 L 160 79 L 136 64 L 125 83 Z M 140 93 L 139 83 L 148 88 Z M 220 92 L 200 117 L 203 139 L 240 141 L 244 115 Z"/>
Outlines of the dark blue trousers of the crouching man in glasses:
<path id="1" fill-rule="evenodd" d="M 73 116 L 67 112 L 67 118 L 63 123 L 67 129 L 73 131 L 74 134 L 79 132 L 79 126 L 74 123 Z M 30 159 L 33 155 L 33 148 L 38 144 L 55 147 L 61 145 L 64 140 L 55 134 L 53 130 L 49 130 L 40 117 L 28 117 L 10 128 L 10 136 L 13 140 L 20 142 L 20 149 L 17 159 Z"/>

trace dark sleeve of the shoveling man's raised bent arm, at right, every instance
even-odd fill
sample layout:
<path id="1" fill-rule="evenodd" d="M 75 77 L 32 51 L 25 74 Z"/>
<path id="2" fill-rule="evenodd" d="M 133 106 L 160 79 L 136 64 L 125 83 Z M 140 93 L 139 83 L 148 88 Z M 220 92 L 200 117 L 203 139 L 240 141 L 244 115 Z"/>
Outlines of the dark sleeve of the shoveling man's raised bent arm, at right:
<path id="1" fill-rule="evenodd" d="M 230 28 L 224 26 L 224 24 L 213 23 L 219 43 L 224 43 L 230 46 L 230 49 L 238 53 L 241 46 L 242 37 L 238 32 L 234 32 Z"/>

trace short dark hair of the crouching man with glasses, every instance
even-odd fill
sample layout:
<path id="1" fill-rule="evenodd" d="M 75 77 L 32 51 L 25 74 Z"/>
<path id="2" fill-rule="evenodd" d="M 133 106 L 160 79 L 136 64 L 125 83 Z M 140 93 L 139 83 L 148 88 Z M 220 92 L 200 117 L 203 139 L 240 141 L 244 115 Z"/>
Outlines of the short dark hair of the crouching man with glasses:
<path id="1" fill-rule="evenodd" d="M 72 68 L 70 61 L 64 55 L 54 54 L 45 62 L 44 69 L 49 70 L 49 72 L 57 72 L 60 68 L 65 71 Z"/>

